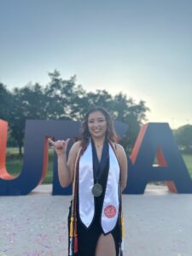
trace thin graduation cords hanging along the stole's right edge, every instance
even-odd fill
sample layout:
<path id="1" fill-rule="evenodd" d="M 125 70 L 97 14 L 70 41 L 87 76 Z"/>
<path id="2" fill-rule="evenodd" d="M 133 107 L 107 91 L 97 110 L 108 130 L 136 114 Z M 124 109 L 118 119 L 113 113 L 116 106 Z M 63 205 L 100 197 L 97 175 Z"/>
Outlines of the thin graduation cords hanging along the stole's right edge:
<path id="1" fill-rule="evenodd" d="M 119 154 L 118 154 L 118 150 L 117 150 L 117 145 L 116 143 L 113 142 L 109 142 L 114 150 L 114 153 L 117 157 L 117 160 L 119 162 Z M 120 165 L 119 165 L 120 166 Z M 120 175 L 121 177 L 121 175 Z M 121 190 L 121 182 L 120 182 L 120 190 Z M 122 255 L 122 251 L 124 250 L 124 238 L 125 238 L 125 221 L 123 218 L 123 210 L 122 210 L 122 195 L 121 195 L 121 191 L 120 191 L 120 211 L 121 211 L 121 221 L 120 221 L 120 226 L 121 226 L 121 243 L 119 245 L 119 255 Z"/>

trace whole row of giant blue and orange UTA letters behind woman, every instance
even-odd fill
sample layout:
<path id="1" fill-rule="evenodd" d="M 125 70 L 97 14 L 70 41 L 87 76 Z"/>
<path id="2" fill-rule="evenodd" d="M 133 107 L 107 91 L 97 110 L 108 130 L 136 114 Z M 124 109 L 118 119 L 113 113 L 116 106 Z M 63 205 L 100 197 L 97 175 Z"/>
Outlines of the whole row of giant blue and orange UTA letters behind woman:
<path id="1" fill-rule="evenodd" d="M 115 122 L 120 137 L 127 125 Z M 78 137 L 80 123 L 73 121 L 27 120 L 25 154 L 19 177 L 9 175 L 5 167 L 7 122 L 0 120 L 0 195 L 26 195 L 45 177 L 48 162 L 48 137 L 66 139 Z M 69 144 L 69 148 L 73 142 Z M 154 165 L 154 159 L 157 164 Z M 143 125 L 128 158 L 128 182 L 125 194 L 143 194 L 147 183 L 164 181 L 177 193 L 192 193 L 192 180 L 184 165 L 168 124 Z M 59 183 L 55 156 L 53 195 L 69 195 L 71 188 L 63 189 Z"/>

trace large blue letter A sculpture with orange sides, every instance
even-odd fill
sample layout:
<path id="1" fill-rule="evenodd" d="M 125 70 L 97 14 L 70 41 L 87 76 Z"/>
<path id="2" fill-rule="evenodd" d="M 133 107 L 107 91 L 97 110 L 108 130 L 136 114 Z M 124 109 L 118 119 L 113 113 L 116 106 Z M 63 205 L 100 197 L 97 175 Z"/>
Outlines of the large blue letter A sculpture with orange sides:
<path id="1" fill-rule="evenodd" d="M 166 123 L 143 125 L 128 169 L 125 194 L 143 194 L 147 183 L 152 181 L 166 181 L 172 192 L 192 193 L 191 177 Z"/>

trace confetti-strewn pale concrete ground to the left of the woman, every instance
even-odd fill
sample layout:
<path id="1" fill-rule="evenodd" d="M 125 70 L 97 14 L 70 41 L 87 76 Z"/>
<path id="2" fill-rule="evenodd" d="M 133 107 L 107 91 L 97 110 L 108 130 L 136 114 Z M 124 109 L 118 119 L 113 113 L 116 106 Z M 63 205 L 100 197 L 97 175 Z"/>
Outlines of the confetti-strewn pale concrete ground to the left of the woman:
<path id="1" fill-rule="evenodd" d="M 1 197 L 0 256 L 67 255 L 70 198 L 49 194 Z"/>

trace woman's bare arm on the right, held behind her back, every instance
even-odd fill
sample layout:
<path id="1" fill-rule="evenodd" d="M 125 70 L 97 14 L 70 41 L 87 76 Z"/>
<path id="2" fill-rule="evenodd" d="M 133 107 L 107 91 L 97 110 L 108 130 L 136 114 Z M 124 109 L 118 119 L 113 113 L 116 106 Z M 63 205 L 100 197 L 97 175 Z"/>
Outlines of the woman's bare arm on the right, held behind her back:
<path id="1" fill-rule="evenodd" d="M 120 171 L 121 171 L 121 188 L 122 191 L 126 187 L 126 181 L 127 181 L 127 158 L 125 154 L 125 149 L 120 145 L 117 144 L 117 151 L 119 156 L 119 165 L 120 165 Z"/>

